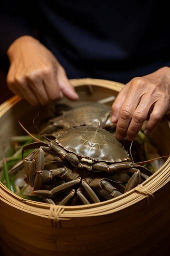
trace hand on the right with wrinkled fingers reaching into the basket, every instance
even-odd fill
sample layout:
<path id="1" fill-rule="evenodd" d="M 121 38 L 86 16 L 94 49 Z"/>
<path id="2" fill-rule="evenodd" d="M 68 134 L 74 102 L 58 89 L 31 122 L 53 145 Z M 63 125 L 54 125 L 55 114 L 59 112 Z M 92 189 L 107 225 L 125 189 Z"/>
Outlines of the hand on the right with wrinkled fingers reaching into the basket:
<path id="1" fill-rule="evenodd" d="M 148 120 L 144 134 L 150 134 L 164 114 L 170 113 L 170 68 L 162 67 L 142 77 L 135 77 L 119 92 L 112 104 L 116 137 L 132 141 L 143 122 Z"/>

